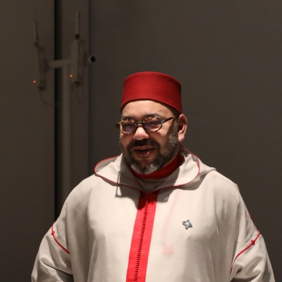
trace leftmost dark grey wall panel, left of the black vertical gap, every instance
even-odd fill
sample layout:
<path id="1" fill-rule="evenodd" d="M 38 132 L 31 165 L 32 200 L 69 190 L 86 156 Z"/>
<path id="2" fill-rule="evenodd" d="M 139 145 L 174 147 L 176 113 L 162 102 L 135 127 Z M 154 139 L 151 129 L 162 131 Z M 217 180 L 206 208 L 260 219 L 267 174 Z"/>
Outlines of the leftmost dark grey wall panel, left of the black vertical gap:
<path id="1" fill-rule="evenodd" d="M 27 9 L 29 7 L 29 9 Z M 53 59 L 53 3 L 0 9 L 0 281 L 30 281 L 40 238 L 54 220 L 54 79 L 33 85 L 34 26 Z M 44 101 L 44 102 L 43 102 Z"/>

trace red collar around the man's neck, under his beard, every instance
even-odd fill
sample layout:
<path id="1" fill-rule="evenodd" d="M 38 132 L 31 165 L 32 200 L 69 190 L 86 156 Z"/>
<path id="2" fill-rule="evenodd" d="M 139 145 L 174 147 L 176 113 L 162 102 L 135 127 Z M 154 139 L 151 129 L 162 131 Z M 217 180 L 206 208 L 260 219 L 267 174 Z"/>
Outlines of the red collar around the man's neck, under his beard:
<path id="1" fill-rule="evenodd" d="M 129 168 L 135 176 L 141 179 L 161 179 L 171 175 L 182 164 L 183 161 L 184 161 L 184 157 L 180 154 L 180 152 L 178 152 L 177 156 L 170 163 L 165 165 L 160 170 L 150 174 L 139 174 L 136 171 L 134 171 L 131 167 Z"/>

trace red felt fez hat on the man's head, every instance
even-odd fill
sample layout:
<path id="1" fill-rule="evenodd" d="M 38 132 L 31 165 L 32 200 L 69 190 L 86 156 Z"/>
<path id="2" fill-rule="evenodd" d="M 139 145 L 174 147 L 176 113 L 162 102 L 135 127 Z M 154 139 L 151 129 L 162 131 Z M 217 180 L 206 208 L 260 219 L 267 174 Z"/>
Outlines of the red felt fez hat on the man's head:
<path id="1" fill-rule="evenodd" d="M 174 77 L 153 71 L 137 72 L 125 78 L 122 106 L 133 100 L 154 100 L 182 113 L 181 84 Z"/>

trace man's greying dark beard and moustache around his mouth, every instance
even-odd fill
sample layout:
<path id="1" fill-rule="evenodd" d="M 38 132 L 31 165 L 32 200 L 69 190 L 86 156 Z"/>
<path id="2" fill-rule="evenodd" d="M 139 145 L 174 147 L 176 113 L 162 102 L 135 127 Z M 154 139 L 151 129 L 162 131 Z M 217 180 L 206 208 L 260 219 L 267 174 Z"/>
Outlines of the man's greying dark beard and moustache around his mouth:
<path id="1" fill-rule="evenodd" d="M 134 159 L 131 152 L 135 146 L 144 145 L 153 146 L 157 150 L 158 154 L 156 159 L 154 159 L 151 163 L 142 166 L 137 159 Z M 170 134 L 169 140 L 163 145 L 163 148 L 161 148 L 160 144 L 157 141 L 152 139 L 132 141 L 126 148 L 123 147 L 120 142 L 120 146 L 127 165 L 129 165 L 134 171 L 139 174 L 151 174 L 155 171 L 158 171 L 175 158 L 179 149 L 178 124 L 174 124 L 173 132 Z"/>

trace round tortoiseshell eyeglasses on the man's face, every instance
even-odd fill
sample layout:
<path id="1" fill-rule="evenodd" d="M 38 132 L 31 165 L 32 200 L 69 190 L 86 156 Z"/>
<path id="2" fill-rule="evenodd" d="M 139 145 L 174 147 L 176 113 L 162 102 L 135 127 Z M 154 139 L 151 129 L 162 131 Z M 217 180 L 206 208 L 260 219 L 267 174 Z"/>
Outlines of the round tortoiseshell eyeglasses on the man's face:
<path id="1" fill-rule="evenodd" d="M 142 122 L 135 122 L 131 119 L 125 119 L 116 124 L 123 134 L 133 134 L 136 132 L 138 125 L 141 124 L 145 131 L 156 132 L 158 131 L 163 123 L 166 123 L 176 116 L 170 117 L 168 119 L 162 120 L 159 117 L 149 117 Z"/>

